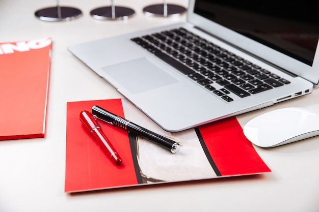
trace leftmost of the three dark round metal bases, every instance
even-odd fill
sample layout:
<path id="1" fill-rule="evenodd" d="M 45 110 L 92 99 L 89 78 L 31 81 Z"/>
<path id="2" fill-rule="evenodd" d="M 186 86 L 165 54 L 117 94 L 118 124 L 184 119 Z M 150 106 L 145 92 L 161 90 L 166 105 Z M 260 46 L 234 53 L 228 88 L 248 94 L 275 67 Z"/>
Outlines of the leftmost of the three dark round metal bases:
<path id="1" fill-rule="evenodd" d="M 81 10 L 72 7 L 49 7 L 35 12 L 35 16 L 43 21 L 69 21 L 81 15 Z"/>

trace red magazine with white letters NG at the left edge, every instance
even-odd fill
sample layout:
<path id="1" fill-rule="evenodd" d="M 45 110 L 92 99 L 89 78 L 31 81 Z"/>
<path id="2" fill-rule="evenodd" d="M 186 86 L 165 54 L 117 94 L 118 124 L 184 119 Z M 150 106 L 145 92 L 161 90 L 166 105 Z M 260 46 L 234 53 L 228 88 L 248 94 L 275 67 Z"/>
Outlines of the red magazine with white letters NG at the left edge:
<path id="1" fill-rule="evenodd" d="M 0 43 L 0 140 L 45 136 L 51 43 Z"/>

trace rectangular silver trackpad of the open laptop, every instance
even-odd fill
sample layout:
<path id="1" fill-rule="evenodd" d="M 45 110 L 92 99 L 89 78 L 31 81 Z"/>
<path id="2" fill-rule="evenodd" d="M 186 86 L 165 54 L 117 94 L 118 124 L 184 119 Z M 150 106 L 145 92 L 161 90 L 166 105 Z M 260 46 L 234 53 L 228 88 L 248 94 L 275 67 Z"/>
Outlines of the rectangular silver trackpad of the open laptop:
<path id="1" fill-rule="evenodd" d="M 117 81 L 111 83 L 120 84 L 132 94 L 178 82 L 176 77 L 146 58 L 103 67 L 102 70 Z"/>

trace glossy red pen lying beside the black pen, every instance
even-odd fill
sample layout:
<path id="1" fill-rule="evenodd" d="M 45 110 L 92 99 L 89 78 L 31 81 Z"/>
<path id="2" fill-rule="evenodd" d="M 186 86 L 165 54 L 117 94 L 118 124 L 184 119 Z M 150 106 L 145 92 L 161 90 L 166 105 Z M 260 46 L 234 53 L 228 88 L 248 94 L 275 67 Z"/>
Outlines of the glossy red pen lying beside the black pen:
<path id="1" fill-rule="evenodd" d="M 92 113 L 87 110 L 83 110 L 80 113 L 79 118 L 84 124 L 85 128 L 92 134 L 94 139 L 102 147 L 103 151 L 110 157 L 111 161 L 119 166 L 122 163 L 121 157 L 116 152 L 109 139 L 104 135 L 100 125 Z"/>

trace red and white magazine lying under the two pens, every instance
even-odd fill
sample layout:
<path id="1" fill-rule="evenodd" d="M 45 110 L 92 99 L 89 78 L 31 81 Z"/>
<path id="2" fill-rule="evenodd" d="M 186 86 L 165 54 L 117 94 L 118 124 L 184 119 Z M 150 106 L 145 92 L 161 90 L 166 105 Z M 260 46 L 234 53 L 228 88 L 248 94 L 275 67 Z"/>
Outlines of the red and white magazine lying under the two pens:
<path id="1" fill-rule="evenodd" d="M 98 120 L 122 158 L 107 158 L 79 120 L 98 105 L 131 122 L 182 144 L 172 154 L 133 133 Z M 67 103 L 65 192 L 82 192 L 271 172 L 244 136 L 236 117 L 170 133 L 159 128 L 124 99 Z"/>

